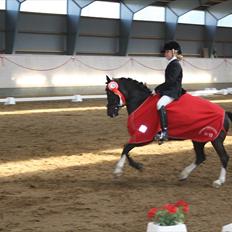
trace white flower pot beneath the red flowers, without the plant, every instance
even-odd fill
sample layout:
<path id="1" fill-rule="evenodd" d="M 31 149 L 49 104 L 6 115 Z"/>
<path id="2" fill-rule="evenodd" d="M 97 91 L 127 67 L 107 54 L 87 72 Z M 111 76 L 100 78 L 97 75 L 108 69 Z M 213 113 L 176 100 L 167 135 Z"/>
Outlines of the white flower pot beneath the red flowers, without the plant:
<path id="1" fill-rule="evenodd" d="M 160 226 L 153 222 L 149 222 L 147 225 L 147 232 L 187 232 L 187 228 L 185 224 Z"/>

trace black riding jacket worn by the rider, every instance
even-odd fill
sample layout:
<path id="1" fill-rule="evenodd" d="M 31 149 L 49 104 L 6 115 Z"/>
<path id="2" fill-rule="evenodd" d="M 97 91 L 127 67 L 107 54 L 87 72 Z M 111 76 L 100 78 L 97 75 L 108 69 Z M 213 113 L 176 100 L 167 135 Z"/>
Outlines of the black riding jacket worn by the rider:
<path id="1" fill-rule="evenodd" d="M 160 96 L 178 99 L 186 91 L 182 89 L 182 67 L 177 59 L 171 61 L 165 69 L 165 82 L 155 88 Z"/>

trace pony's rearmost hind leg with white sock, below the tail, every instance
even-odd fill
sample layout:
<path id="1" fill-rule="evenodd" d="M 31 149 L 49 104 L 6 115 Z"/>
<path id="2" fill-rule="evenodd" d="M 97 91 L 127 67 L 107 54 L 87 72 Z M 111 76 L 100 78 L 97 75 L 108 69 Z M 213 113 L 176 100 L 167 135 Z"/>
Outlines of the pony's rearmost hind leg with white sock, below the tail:
<path id="1" fill-rule="evenodd" d="M 219 178 L 213 182 L 213 186 L 216 188 L 219 188 L 226 181 L 226 168 L 229 161 L 229 156 L 223 145 L 225 137 L 226 137 L 226 132 L 221 131 L 220 135 L 212 142 L 212 145 L 216 150 L 222 164 Z"/>

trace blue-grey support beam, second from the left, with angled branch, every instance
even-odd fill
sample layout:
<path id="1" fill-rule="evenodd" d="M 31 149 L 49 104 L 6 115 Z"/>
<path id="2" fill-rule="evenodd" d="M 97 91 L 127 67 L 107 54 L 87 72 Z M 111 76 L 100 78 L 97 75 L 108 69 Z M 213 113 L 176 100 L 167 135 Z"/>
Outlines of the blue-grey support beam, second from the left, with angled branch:
<path id="1" fill-rule="evenodd" d="M 94 0 L 67 0 L 67 55 L 75 55 L 80 31 L 81 11 Z"/>

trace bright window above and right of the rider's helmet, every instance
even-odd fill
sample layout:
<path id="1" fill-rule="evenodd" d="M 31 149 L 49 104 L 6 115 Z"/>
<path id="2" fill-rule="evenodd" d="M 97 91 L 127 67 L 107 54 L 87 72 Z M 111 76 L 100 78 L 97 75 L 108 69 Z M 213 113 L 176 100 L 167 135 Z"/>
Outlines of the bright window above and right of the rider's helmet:
<path id="1" fill-rule="evenodd" d="M 178 19 L 178 23 L 204 25 L 205 12 L 200 10 L 191 10 L 186 14 L 180 16 Z"/>

